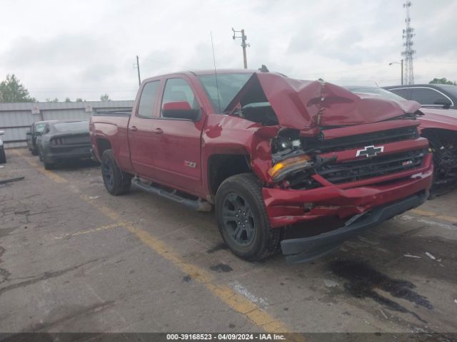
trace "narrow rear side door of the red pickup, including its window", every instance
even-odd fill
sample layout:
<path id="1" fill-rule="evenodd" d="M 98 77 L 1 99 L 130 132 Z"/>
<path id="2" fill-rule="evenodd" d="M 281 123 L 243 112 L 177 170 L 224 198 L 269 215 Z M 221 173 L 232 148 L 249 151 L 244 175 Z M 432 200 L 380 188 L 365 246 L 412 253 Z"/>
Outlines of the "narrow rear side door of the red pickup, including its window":
<path id="1" fill-rule="evenodd" d="M 129 147 L 131 164 L 141 177 L 155 178 L 154 113 L 158 110 L 157 95 L 160 80 L 145 83 L 141 90 L 139 105 L 129 120 Z"/>

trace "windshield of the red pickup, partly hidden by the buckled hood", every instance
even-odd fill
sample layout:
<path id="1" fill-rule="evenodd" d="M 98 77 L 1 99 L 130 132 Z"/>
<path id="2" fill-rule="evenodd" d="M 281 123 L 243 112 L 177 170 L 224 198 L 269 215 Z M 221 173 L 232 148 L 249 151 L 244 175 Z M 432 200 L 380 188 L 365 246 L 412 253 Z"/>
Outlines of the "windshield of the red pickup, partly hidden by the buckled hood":
<path id="1" fill-rule="evenodd" d="M 251 76 L 251 73 L 221 73 L 217 75 L 217 86 L 215 75 L 199 76 L 199 79 L 214 111 L 222 113 Z"/>

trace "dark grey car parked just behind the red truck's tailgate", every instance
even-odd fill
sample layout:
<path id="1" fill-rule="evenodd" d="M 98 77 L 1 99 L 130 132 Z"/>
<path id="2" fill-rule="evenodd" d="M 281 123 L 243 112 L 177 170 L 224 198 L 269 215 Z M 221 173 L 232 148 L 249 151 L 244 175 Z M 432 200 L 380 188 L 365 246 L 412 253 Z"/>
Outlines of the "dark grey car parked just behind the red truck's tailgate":
<path id="1" fill-rule="evenodd" d="M 50 170 L 58 162 L 89 159 L 89 121 L 71 120 L 46 123 L 36 139 L 40 160 Z"/>

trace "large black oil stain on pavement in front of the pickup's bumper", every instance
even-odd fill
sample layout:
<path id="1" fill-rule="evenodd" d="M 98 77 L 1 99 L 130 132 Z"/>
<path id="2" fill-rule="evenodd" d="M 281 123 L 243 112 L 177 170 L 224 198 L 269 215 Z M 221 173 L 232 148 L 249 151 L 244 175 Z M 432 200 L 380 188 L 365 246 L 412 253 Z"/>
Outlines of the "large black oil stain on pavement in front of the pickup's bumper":
<path id="1" fill-rule="evenodd" d="M 423 323 L 426 323 L 426 321 L 419 317 L 418 314 L 406 309 L 396 301 L 381 296 L 376 289 L 386 291 L 393 297 L 406 299 L 416 304 L 416 306 L 423 306 L 428 310 L 433 309 L 433 306 L 425 296 L 421 296 L 413 291 L 416 285 L 411 283 L 411 281 L 392 279 L 386 276 L 386 274 L 376 271 L 376 269 L 373 269 L 363 261 L 333 261 L 330 264 L 330 269 L 336 276 L 347 280 L 344 287 L 349 294 L 356 298 L 371 298 L 378 304 L 386 306 L 387 309 L 411 314 Z"/>

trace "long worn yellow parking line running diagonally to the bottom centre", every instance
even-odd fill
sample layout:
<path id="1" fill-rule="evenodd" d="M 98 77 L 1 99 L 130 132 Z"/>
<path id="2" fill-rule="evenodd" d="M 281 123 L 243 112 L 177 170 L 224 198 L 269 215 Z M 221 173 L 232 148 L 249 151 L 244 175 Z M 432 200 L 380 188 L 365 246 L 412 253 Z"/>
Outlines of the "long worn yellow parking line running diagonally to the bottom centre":
<path id="1" fill-rule="evenodd" d="M 20 153 L 18 155 L 21 155 Z M 38 168 L 39 166 L 36 163 L 29 164 L 33 167 Z M 54 172 L 46 172 L 45 175 L 48 176 L 51 180 L 56 182 L 56 177 L 54 177 Z M 57 175 L 55 175 L 57 176 Z M 61 178 L 60 176 L 57 176 Z M 65 182 L 68 182 L 65 180 Z M 153 235 L 146 232 L 144 229 L 135 227 L 134 224 L 123 222 L 119 214 L 117 214 L 113 209 L 106 207 L 104 205 L 100 205 L 99 202 L 91 201 L 91 199 L 86 195 L 81 195 L 71 189 L 74 193 L 79 195 L 81 199 L 83 199 L 86 203 L 91 204 L 94 208 L 98 209 L 100 212 L 105 214 L 106 217 L 113 220 L 115 225 L 119 225 L 125 227 L 129 232 L 135 234 L 138 239 L 146 244 L 146 246 L 150 247 L 154 252 L 159 254 L 164 259 L 171 261 L 172 264 L 177 266 L 184 274 L 189 274 L 194 281 L 198 281 L 200 284 L 204 285 L 206 289 L 209 289 L 214 296 L 219 298 L 223 301 L 227 306 L 229 306 L 233 311 L 238 312 L 238 314 L 242 314 L 246 316 L 249 320 L 251 320 L 256 326 L 259 326 L 264 331 L 268 333 L 290 333 L 291 328 L 289 328 L 286 323 L 273 318 L 270 314 L 266 311 L 263 311 L 259 308 L 256 304 L 252 301 L 246 299 L 246 297 L 241 296 L 241 294 L 236 293 L 229 286 L 224 284 L 217 284 L 216 279 L 214 276 L 210 274 L 208 271 L 201 269 L 199 266 L 194 264 L 190 264 L 189 262 L 182 259 L 179 254 L 173 251 L 171 247 L 167 246 L 162 242 L 160 239 L 157 239 Z M 113 226 L 113 224 L 109 225 Z M 108 227 L 108 226 L 106 226 Z M 107 228 L 108 229 L 108 228 Z M 84 234 L 84 233 L 82 233 Z M 305 338 L 301 334 L 293 334 L 292 336 L 288 336 L 289 341 L 306 341 Z"/>

